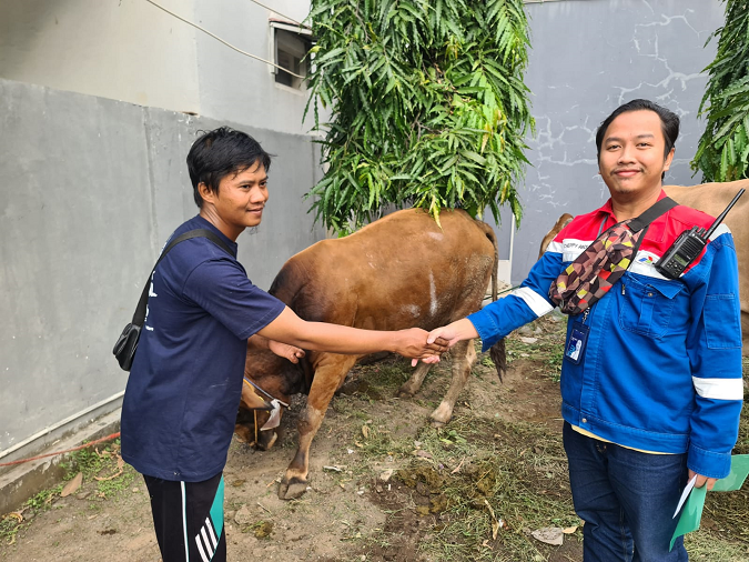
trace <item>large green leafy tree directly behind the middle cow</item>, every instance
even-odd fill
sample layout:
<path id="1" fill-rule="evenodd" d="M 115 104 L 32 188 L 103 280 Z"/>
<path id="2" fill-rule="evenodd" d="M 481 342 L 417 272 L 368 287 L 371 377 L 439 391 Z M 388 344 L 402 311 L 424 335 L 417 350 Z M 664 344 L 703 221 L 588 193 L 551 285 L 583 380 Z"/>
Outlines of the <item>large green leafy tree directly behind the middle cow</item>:
<path id="1" fill-rule="evenodd" d="M 524 178 L 535 122 L 523 0 L 313 0 L 307 111 L 324 131 L 316 219 L 346 233 L 396 207 L 495 218 Z M 321 123 L 318 103 L 331 112 Z"/>

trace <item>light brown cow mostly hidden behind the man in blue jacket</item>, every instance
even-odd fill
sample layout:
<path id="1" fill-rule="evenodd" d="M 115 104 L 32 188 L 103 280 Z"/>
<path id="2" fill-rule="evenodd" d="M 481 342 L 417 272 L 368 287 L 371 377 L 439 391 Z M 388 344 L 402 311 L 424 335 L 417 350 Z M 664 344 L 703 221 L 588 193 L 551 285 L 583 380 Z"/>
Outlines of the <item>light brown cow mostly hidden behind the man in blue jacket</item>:
<path id="1" fill-rule="evenodd" d="M 676 202 L 718 217 L 731 202 L 740 189 L 749 191 L 749 180 L 725 183 L 701 183 L 699 185 L 664 185 L 668 197 Z M 571 220 L 563 214 L 554 228 L 544 237 L 541 253 L 549 242 Z M 739 292 L 741 299 L 741 331 L 743 332 L 743 354 L 749 354 L 749 193 L 745 193 L 733 209 L 726 215 L 723 223 L 731 229 L 733 244 L 739 260 Z M 540 255 L 539 255 L 540 257 Z"/>

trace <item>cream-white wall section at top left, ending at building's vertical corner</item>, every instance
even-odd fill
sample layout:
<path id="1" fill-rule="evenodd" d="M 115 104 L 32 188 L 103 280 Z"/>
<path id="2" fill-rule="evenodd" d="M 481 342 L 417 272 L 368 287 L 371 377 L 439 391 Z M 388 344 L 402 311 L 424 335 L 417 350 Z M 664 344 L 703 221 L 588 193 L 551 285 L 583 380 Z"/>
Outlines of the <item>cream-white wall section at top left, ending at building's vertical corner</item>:
<path id="1" fill-rule="evenodd" d="M 0 77 L 200 113 L 195 33 L 144 0 L 0 0 Z"/>

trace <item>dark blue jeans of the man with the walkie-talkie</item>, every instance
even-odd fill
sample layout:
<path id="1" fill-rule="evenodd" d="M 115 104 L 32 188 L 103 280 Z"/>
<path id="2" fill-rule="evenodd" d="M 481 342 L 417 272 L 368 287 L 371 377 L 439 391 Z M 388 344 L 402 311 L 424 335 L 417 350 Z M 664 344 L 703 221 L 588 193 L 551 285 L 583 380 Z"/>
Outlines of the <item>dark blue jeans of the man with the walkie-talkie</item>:
<path id="1" fill-rule="evenodd" d="M 565 422 L 575 511 L 585 521 L 585 562 L 682 562 L 684 538 L 668 545 L 687 484 L 687 454 L 651 454 L 599 441 Z"/>

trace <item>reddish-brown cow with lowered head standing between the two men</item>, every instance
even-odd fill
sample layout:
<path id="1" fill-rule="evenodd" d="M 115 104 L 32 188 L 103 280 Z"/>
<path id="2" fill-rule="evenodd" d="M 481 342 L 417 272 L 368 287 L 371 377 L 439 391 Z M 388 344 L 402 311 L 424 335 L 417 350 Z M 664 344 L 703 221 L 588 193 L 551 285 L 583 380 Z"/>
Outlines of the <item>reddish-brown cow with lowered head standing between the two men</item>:
<path id="1" fill-rule="evenodd" d="M 439 217 L 442 229 L 425 211 L 398 211 L 350 237 L 317 242 L 284 264 L 270 293 L 305 320 L 371 330 L 432 330 L 465 318 L 480 308 L 489 279 L 496 299 L 496 238 L 489 225 L 464 211 L 443 211 Z M 492 357 L 500 374 L 504 344 L 493 348 Z M 431 415 L 434 424 L 446 423 L 453 414 L 476 360 L 473 341 L 456 344 L 452 358 L 453 380 Z M 306 490 L 312 439 L 334 392 L 358 359 L 307 352 L 294 365 L 269 351 L 249 350 L 245 375 L 264 392 L 289 402 L 291 394 L 308 391 L 297 425 L 298 449 L 279 498 L 297 498 Z M 419 363 L 398 394 L 413 397 L 429 367 Z M 244 394 L 256 401 L 252 394 L 262 392 L 245 384 Z M 269 420 L 269 412 L 255 410 L 253 417 L 257 428 Z M 255 432 L 263 449 L 276 440 L 275 430 Z"/>

